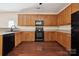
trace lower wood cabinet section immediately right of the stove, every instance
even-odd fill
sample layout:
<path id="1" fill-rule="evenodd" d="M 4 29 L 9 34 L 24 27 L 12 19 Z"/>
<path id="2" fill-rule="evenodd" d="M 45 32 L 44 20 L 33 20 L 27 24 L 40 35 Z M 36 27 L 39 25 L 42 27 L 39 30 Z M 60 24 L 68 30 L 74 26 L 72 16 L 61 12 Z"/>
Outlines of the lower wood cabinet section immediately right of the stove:
<path id="1" fill-rule="evenodd" d="M 44 41 L 56 41 L 57 34 L 54 31 L 44 32 Z"/>

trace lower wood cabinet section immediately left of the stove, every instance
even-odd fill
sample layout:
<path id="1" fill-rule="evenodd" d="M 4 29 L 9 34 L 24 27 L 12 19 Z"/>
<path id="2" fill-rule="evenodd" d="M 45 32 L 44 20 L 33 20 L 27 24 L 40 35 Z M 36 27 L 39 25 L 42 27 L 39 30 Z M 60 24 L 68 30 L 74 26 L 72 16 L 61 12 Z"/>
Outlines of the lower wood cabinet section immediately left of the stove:
<path id="1" fill-rule="evenodd" d="M 35 41 L 35 32 L 22 32 L 22 41 Z"/>

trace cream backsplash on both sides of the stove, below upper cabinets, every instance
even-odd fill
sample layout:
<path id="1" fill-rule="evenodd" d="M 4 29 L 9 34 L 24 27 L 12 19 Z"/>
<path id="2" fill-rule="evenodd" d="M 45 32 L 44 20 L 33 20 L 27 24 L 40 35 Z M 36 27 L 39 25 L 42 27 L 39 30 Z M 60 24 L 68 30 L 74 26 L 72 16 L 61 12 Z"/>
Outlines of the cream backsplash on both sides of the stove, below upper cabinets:
<path id="1" fill-rule="evenodd" d="M 18 26 L 20 30 L 23 31 L 35 31 L 35 26 Z M 44 31 L 58 31 L 71 33 L 71 25 L 64 26 L 44 26 Z"/>

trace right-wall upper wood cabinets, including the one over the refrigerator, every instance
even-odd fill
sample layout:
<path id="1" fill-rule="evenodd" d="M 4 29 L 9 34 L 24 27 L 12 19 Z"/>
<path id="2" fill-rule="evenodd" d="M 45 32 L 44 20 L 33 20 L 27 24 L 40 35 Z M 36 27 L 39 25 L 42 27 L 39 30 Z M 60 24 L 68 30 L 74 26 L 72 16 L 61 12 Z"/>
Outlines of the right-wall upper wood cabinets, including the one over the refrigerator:
<path id="1" fill-rule="evenodd" d="M 71 24 L 71 14 L 79 11 L 79 3 L 72 3 L 57 15 L 57 25 Z"/>

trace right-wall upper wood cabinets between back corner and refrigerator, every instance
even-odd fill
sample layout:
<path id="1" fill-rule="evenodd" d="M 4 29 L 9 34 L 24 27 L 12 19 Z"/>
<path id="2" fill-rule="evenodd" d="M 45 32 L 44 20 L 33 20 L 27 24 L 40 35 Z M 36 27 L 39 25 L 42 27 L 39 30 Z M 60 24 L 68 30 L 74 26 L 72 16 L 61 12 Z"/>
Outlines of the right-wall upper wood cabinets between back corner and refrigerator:
<path id="1" fill-rule="evenodd" d="M 57 25 L 71 24 L 71 5 L 57 15 Z"/>

